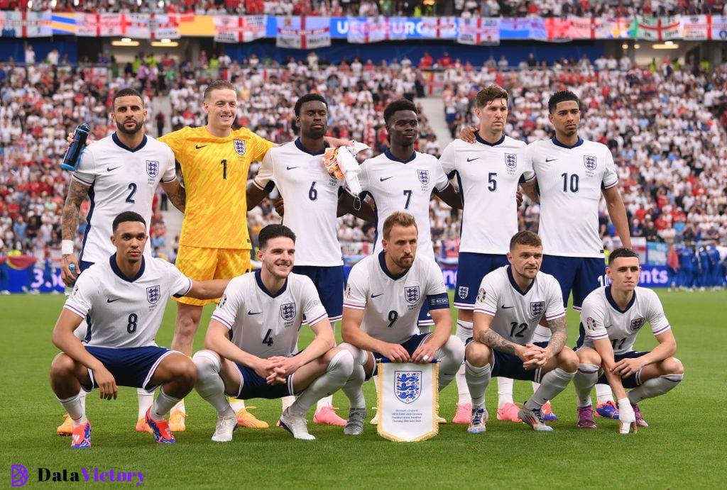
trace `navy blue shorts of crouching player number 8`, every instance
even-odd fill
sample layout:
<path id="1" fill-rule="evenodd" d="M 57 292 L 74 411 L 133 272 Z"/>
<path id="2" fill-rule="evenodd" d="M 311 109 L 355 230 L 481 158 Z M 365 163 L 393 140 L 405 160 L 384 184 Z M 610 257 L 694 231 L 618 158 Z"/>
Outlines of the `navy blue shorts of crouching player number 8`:
<path id="1" fill-rule="evenodd" d="M 149 383 L 161 359 L 177 352 L 170 348 L 157 346 L 125 348 L 86 346 L 86 350 L 111 372 L 117 385 L 144 388 L 146 391 L 153 391 L 156 388 L 156 386 L 150 386 Z M 89 369 L 89 376 L 93 385 L 90 388 L 84 386 L 86 391 L 98 388 L 91 369 Z"/>

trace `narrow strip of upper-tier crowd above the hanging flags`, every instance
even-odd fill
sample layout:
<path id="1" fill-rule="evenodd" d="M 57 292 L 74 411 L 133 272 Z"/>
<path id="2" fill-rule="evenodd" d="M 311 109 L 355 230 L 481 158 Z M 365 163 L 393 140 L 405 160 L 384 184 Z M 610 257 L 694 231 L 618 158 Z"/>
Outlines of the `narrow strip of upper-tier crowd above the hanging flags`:
<path id="1" fill-rule="evenodd" d="M 322 15 L 345 17 L 457 15 L 463 17 L 625 17 L 723 15 L 723 0 L 0 0 L 0 9 L 55 12 L 180 12 L 196 15 Z"/>

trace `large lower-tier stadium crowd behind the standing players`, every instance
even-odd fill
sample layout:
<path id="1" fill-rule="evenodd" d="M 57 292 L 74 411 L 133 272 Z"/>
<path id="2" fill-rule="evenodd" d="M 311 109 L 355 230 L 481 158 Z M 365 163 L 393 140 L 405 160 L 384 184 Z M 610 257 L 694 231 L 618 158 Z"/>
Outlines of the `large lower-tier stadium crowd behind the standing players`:
<path id="1" fill-rule="evenodd" d="M 632 236 L 727 245 L 727 168 L 720 165 L 727 160 L 725 66 L 704 70 L 655 60 L 634 67 L 627 58 L 609 57 L 593 62 L 564 59 L 551 66 L 530 58 L 510 71 L 499 70 L 494 60 L 481 70 L 457 60 L 448 67 L 442 97 L 452 136 L 475 122 L 476 91 L 498 83 L 511 94 L 506 133 L 527 142 L 551 137 L 544 101 L 551 91 L 569 86 L 584 105 L 580 134 L 607 144 L 614 154 Z M 168 56 L 141 54 L 126 66 L 114 66 L 108 83 L 66 65 L 0 64 L 0 256 L 10 250 L 39 259 L 57 254 L 68 179 L 57 162 L 65 150 L 65 134 L 79 121 L 90 123 L 96 138 L 112 131 L 110 94 L 123 86 L 141 89 L 150 109 L 147 131 L 157 136 L 167 117 L 172 129 L 204 125 L 199 87 L 217 78 L 229 78 L 238 86 L 238 123 L 273 142 L 297 135 L 290 101 L 310 91 L 321 93 L 329 101 L 329 134 L 366 142 L 369 155 L 387 147 L 383 107 L 393 99 L 421 95 L 425 83 L 410 60 L 374 65 L 354 59 L 332 65 L 315 55 L 279 65 L 256 57 L 238 63 L 204 52 L 194 62 L 177 64 Z M 150 100 L 157 94 L 169 95 L 171 114 L 153 113 Z M 424 114 L 418 150 L 433 155 L 443 150 Z M 252 166 L 251 177 L 256 171 L 257 165 Z M 174 260 L 177 239 L 166 237 L 160 208 L 166 208 L 161 194 L 151 226 L 152 245 L 157 255 Z M 614 226 L 605 208 L 601 211 L 603 240 L 610 245 Z M 537 230 L 538 214 L 538 205 L 526 200 L 521 226 Z M 442 257 L 450 256 L 457 248 L 461 214 L 433 200 L 430 216 L 433 241 Z M 253 235 L 278 219 L 273 200 L 265 200 L 250 214 Z M 79 234 L 83 229 L 82 222 Z M 347 255 L 369 253 L 373 232 L 371 224 L 353 216 L 340 219 Z"/>

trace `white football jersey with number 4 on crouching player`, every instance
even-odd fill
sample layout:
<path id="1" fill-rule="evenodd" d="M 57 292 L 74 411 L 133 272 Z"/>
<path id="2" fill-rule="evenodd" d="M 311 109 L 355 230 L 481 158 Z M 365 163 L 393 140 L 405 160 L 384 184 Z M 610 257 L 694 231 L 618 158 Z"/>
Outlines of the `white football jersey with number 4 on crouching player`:
<path id="1" fill-rule="evenodd" d="M 248 354 L 267 359 L 297 351 L 300 325 L 328 318 L 308 277 L 290 274 L 276 294 L 262 284 L 260 270 L 230 281 L 212 319 L 230 329 L 232 343 Z"/>

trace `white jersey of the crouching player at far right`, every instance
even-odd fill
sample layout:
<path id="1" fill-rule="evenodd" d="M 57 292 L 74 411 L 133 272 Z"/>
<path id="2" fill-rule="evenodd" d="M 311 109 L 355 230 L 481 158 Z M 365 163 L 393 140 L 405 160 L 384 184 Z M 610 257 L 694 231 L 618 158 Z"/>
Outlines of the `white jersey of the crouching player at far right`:
<path id="1" fill-rule="evenodd" d="M 614 354 L 624 354 L 634 348 L 636 335 L 648 322 L 651 332 L 660 335 L 670 330 L 659 296 L 646 287 L 636 287 L 626 309 L 619 309 L 611 296 L 611 286 L 599 287 L 586 296 L 581 310 L 585 330 L 583 345 L 593 347 L 593 340 L 608 338 Z"/>

